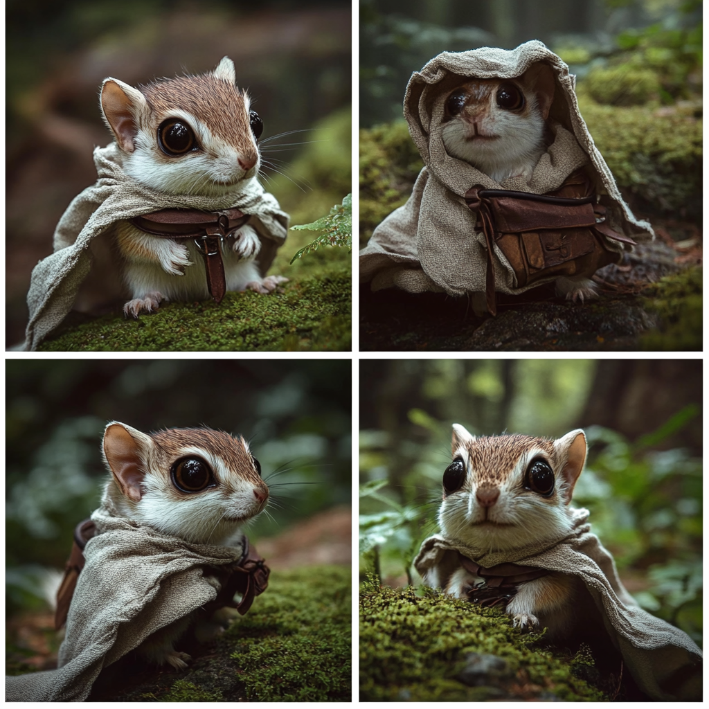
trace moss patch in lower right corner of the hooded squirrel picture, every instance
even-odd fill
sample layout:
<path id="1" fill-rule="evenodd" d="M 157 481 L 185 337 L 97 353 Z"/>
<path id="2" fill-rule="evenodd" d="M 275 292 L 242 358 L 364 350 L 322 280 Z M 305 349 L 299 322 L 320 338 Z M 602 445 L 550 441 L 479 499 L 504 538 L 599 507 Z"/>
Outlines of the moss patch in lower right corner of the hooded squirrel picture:
<path id="1" fill-rule="evenodd" d="M 644 350 L 702 350 L 702 269 L 666 276 L 645 291 L 645 306 L 660 317 L 659 329 L 642 336 Z"/>

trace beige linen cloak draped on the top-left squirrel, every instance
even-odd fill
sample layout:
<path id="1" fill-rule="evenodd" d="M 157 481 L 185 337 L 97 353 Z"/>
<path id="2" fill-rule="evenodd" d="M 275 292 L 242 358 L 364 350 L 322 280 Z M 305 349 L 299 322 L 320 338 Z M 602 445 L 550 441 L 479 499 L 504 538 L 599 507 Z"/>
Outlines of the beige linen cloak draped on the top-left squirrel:
<path id="1" fill-rule="evenodd" d="M 256 177 L 242 180 L 234 191 L 219 197 L 168 195 L 129 177 L 123 171 L 123 152 L 115 142 L 97 147 L 94 163 L 99 179 L 69 204 L 55 230 L 54 253 L 33 269 L 27 294 L 30 318 L 23 350 L 36 350 L 72 310 L 79 287 L 92 267 L 92 247 L 118 220 L 169 208 L 217 211 L 237 207 L 251 215 L 248 223 L 261 240 L 257 261 L 262 274 L 267 272 L 277 248 L 286 239 L 288 215 Z M 191 268 L 203 268 L 203 264 Z M 118 269 L 114 262 L 113 279 Z M 107 279 L 110 277 L 107 274 Z"/>

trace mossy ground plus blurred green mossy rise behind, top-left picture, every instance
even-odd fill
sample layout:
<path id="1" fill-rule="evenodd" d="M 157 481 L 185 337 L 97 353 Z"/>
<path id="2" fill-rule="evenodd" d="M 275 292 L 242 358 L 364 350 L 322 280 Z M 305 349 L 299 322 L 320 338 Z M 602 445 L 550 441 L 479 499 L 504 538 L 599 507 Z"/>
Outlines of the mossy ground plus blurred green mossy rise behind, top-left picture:
<path id="1" fill-rule="evenodd" d="M 351 191 L 350 109 L 316 125 L 310 143 L 286 174 L 264 186 L 291 216 L 311 223 Z M 308 138 L 306 138 L 308 142 Z M 268 150 L 264 151 L 268 159 Z M 291 258 L 316 233 L 289 230 L 269 273 L 290 279 L 281 293 L 229 293 L 213 301 L 166 303 L 138 319 L 115 313 L 70 316 L 39 347 L 50 352 L 342 351 L 352 347 L 352 256 L 331 247 Z"/>

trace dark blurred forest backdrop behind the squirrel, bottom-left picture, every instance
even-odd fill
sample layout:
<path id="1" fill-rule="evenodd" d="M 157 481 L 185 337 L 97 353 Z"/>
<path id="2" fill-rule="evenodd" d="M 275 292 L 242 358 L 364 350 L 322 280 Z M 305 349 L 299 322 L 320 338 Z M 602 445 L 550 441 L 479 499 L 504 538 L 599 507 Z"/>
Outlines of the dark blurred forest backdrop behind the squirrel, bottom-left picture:
<path id="1" fill-rule="evenodd" d="M 46 608 L 51 570 L 99 504 L 108 421 L 242 434 L 272 491 L 258 540 L 349 508 L 351 389 L 349 360 L 6 362 L 6 614 Z"/>

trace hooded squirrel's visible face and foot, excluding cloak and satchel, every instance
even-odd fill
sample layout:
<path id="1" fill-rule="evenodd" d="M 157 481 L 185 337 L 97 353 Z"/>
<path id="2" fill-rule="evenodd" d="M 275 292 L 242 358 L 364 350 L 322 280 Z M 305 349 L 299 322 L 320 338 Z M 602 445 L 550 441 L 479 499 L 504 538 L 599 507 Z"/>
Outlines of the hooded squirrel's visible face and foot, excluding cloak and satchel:
<path id="1" fill-rule="evenodd" d="M 554 75 L 540 62 L 516 79 L 469 79 L 445 101 L 443 144 L 495 182 L 521 175 L 529 182 L 550 143 L 547 125 Z M 597 297 L 587 277 L 559 277 L 557 296 L 584 302 Z M 480 306 L 483 311 L 482 306 Z"/>

